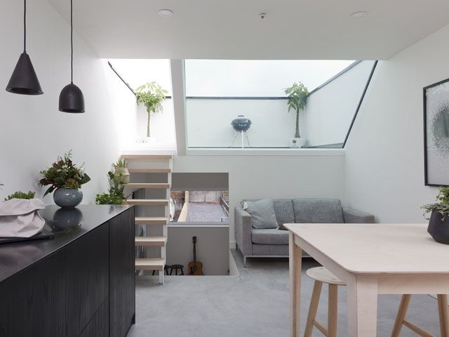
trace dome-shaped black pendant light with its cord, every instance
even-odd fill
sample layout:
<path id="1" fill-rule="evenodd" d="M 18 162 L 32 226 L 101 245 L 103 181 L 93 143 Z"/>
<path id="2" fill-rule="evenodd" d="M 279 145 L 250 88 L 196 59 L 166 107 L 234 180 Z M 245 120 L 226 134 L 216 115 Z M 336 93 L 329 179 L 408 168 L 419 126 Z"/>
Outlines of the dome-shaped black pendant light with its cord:
<path id="1" fill-rule="evenodd" d="M 73 84 L 73 0 L 70 0 L 70 59 L 71 81 L 59 95 L 59 111 L 80 113 L 84 112 L 84 96 L 81 89 Z"/>

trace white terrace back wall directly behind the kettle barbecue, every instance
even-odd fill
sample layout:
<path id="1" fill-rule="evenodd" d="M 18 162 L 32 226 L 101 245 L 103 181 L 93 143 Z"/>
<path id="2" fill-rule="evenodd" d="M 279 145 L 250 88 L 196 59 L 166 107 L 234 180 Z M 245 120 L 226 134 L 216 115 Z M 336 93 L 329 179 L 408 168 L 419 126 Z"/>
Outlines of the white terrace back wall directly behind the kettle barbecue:
<path id="1" fill-rule="evenodd" d="M 290 139 L 295 136 L 296 114 L 288 112 L 287 100 L 196 99 L 187 99 L 187 145 L 231 146 L 235 133 L 231 121 L 239 114 L 253 123 L 247 131 L 251 147 L 290 146 Z M 302 125 L 300 131 L 304 131 Z M 246 139 L 244 144 L 248 147 Z M 241 133 L 233 146 L 241 147 Z"/>

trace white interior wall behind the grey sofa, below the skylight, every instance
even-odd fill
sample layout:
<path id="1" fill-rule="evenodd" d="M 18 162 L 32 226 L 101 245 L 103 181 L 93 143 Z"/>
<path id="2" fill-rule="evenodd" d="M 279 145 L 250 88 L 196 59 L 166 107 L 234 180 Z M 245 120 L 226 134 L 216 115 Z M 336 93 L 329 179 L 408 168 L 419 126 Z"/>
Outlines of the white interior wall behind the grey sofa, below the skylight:
<path id="1" fill-rule="evenodd" d="M 179 156 L 173 159 L 173 172 L 229 173 L 229 241 L 233 247 L 234 207 L 243 199 L 329 197 L 344 201 L 344 152 L 319 151 L 298 156 Z"/>

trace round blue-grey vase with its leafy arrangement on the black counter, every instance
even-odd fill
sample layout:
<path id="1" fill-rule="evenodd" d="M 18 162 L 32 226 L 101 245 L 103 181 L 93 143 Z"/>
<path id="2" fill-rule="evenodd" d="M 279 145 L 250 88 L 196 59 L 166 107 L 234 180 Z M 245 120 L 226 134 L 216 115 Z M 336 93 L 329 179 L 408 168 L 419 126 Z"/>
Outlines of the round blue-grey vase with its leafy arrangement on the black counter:
<path id="1" fill-rule="evenodd" d="M 83 192 L 81 185 L 88 183 L 91 178 L 84 173 L 83 165 L 76 167 L 72 162 L 72 151 L 58 157 L 52 166 L 47 170 L 39 172 L 42 176 L 39 180 L 41 186 L 51 185 L 43 194 L 55 191 L 53 200 L 60 207 L 75 207 L 81 203 Z"/>

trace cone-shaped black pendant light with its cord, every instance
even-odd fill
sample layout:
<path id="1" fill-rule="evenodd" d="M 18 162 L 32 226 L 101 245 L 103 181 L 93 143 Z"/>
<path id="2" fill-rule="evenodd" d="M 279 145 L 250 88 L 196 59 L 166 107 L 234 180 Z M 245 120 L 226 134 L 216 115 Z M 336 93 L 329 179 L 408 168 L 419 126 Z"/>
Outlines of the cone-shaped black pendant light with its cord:
<path id="1" fill-rule="evenodd" d="M 15 65 L 13 75 L 6 86 L 6 91 L 20 95 L 42 95 L 41 84 L 27 54 L 27 0 L 23 6 L 23 53 Z"/>

